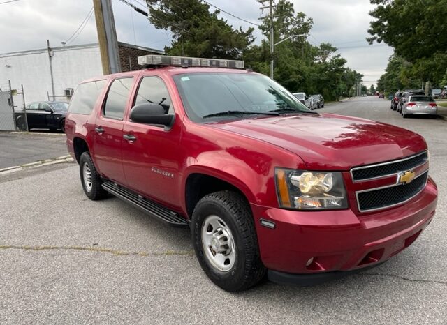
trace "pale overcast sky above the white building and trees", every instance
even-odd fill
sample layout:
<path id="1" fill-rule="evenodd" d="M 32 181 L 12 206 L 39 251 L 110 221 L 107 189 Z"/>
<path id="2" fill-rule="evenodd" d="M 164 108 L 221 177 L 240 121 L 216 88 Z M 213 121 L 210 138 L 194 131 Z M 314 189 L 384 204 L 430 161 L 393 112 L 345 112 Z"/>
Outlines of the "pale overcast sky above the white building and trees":
<path id="1" fill-rule="evenodd" d="M 145 9 L 145 0 L 127 1 Z M 369 0 L 291 1 L 295 12 L 301 11 L 314 20 L 307 38 L 310 43 L 331 43 L 347 60 L 346 66 L 364 75 L 363 84 L 376 85 L 393 49 L 384 44 L 368 45 L 365 40 L 372 19 L 368 13 L 374 8 Z M 256 0 L 207 2 L 255 24 L 263 15 L 259 9 L 261 4 Z M 157 50 L 170 44 L 169 31 L 155 29 L 145 16 L 119 0 L 112 0 L 112 6 L 120 42 Z M 67 42 L 67 45 L 97 43 L 92 8 L 92 0 L 0 0 L 0 53 L 42 49 L 46 47 L 47 39 L 52 47 L 61 46 L 61 42 Z M 255 27 L 256 43 L 261 42 L 263 36 L 253 24 L 223 12 L 220 17 L 235 28 Z"/>

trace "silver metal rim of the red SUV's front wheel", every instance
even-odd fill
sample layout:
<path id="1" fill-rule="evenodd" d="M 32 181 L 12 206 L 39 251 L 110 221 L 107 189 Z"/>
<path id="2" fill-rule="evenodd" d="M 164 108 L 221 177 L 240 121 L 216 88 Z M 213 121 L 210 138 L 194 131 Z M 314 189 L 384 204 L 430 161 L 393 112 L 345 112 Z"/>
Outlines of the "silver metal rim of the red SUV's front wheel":
<path id="1" fill-rule="evenodd" d="M 235 242 L 230 229 L 218 216 L 207 216 L 203 221 L 202 245 L 212 266 L 222 272 L 230 271 L 236 260 Z"/>

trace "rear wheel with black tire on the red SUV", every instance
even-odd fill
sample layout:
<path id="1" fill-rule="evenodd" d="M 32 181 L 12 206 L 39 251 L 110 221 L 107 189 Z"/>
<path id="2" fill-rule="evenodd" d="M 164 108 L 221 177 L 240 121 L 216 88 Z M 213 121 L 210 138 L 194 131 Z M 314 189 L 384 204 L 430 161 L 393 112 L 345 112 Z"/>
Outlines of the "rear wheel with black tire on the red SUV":
<path id="1" fill-rule="evenodd" d="M 103 181 L 101 181 L 101 177 L 96 172 L 95 165 L 88 151 L 83 152 L 80 157 L 79 170 L 85 195 L 93 201 L 105 199 L 107 192 L 102 187 Z"/>

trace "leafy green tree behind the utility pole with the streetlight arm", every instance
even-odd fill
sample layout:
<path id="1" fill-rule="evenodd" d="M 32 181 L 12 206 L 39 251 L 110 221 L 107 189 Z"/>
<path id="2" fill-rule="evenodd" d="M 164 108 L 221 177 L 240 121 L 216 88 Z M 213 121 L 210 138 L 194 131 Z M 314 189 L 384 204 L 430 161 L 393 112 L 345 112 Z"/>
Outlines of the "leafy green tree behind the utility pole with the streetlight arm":
<path id="1" fill-rule="evenodd" d="M 274 47 L 274 79 L 290 91 L 321 93 L 328 100 L 337 99 L 345 88 L 342 77 L 346 63 L 342 56 L 335 54 L 337 48 L 329 43 L 311 45 L 303 36 L 286 40 L 293 35 L 309 35 L 313 24 L 312 18 L 304 13 L 295 13 L 291 1 L 278 1 L 273 14 L 274 43 L 285 40 Z M 244 58 L 247 64 L 268 74 L 270 19 L 265 18 L 259 29 L 265 40 L 261 46 L 247 50 Z M 258 59 L 264 61 L 261 63 Z"/>

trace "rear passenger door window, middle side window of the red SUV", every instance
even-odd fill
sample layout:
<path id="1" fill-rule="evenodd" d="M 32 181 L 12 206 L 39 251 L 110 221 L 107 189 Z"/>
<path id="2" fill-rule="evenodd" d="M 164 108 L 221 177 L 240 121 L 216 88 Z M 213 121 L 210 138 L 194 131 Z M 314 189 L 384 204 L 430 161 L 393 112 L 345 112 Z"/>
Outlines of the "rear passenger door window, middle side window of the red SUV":
<path id="1" fill-rule="evenodd" d="M 105 100 L 103 114 L 110 119 L 123 119 L 133 78 L 122 78 L 112 82 Z"/>

